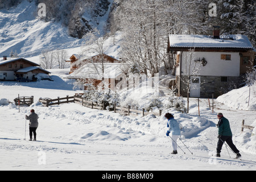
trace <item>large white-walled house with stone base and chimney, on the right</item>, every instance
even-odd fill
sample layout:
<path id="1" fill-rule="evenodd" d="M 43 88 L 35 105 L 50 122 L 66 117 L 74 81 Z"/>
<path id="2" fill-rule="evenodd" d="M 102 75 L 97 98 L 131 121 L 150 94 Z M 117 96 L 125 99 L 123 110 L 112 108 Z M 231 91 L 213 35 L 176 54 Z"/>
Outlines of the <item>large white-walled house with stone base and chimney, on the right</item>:
<path id="1" fill-rule="evenodd" d="M 168 51 L 176 55 L 176 85 L 179 96 L 218 97 L 250 71 L 255 49 L 243 35 L 170 35 Z"/>

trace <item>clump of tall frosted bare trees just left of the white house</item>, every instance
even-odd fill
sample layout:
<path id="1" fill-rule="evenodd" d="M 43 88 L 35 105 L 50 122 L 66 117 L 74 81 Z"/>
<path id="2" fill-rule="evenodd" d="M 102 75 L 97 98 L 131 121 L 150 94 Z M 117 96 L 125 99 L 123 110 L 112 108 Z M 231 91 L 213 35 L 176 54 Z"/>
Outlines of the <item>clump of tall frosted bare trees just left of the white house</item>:
<path id="1" fill-rule="evenodd" d="M 162 1 L 123 1 L 121 27 L 124 32 L 122 59 L 130 65 L 138 64 L 144 73 L 159 72 L 167 59 L 167 32 L 162 22 Z M 119 12 L 120 12 L 119 11 Z"/>

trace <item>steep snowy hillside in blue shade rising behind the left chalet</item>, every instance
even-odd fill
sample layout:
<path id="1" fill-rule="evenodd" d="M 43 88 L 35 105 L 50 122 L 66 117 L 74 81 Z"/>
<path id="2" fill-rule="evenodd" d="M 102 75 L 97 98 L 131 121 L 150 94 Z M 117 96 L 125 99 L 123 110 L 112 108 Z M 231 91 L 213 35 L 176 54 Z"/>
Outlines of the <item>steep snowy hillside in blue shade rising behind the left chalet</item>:
<path id="1" fill-rule="evenodd" d="M 110 3 L 111 5 L 112 2 Z M 79 54 L 81 52 L 80 47 L 84 41 L 83 39 L 72 38 L 69 35 L 68 28 L 63 26 L 61 22 L 44 22 L 36 18 L 36 10 L 37 7 L 34 1 L 31 3 L 22 1 L 17 7 L 11 7 L 9 10 L 0 10 L 1 56 L 9 57 L 11 51 L 13 51 L 17 52 L 19 57 L 26 57 L 28 60 L 39 63 L 38 56 L 42 51 L 65 49 L 70 56 L 74 53 Z M 93 19 L 86 12 L 84 16 L 87 19 Z M 98 18 L 98 22 L 92 20 L 94 27 L 103 31 L 102 27 L 104 27 L 104 23 L 108 19 L 108 14 L 109 12 L 105 16 Z M 112 50 L 111 52 L 114 51 Z M 107 51 L 107 53 L 109 52 Z"/>

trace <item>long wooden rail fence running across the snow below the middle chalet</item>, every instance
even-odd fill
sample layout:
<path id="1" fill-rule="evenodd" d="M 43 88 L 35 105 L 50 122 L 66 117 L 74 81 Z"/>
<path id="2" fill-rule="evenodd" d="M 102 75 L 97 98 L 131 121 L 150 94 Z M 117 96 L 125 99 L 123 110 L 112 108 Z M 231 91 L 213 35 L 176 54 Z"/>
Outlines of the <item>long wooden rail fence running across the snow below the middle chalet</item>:
<path id="1" fill-rule="evenodd" d="M 63 97 L 63 98 L 56 98 L 56 99 L 49 99 L 45 98 L 39 99 L 39 102 L 42 102 L 42 104 L 46 107 L 51 106 L 51 105 L 59 105 L 59 104 L 66 104 L 69 102 L 74 102 L 76 104 L 81 104 L 82 106 L 90 107 L 92 109 L 100 109 L 100 110 L 106 110 L 106 104 L 105 102 L 102 103 L 97 103 L 97 102 L 92 102 L 92 101 L 87 101 L 85 100 L 84 97 L 81 96 L 81 94 L 76 94 L 75 96 L 72 97 Z M 159 113 L 154 113 L 154 112 L 147 112 L 145 109 L 139 110 L 138 107 L 136 109 L 131 109 L 130 106 L 125 107 L 117 107 L 114 105 L 114 108 L 112 109 L 114 113 L 122 113 L 124 115 L 138 115 L 142 114 L 144 117 L 145 115 L 148 114 L 154 114 L 157 116 L 160 116 L 162 114 L 162 110 L 159 110 Z"/>

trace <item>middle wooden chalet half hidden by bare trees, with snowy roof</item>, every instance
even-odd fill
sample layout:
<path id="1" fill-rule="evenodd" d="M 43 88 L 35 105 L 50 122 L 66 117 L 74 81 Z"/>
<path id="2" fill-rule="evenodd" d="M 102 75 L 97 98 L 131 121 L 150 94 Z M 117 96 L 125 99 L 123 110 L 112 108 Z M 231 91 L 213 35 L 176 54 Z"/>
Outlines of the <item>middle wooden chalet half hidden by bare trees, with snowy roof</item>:
<path id="1" fill-rule="evenodd" d="M 117 84 L 117 78 L 122 74 L 121 63 L 112 56 L 105 54 L 94 55 L 88 59 L 79 61 L 78 55 L 72 55 L 67 62 L 71 63 L 71 71 L 67 78 L 75 79 L 80 83 L 80 89 L 86 89 L 85 84 L 92 83 L 94 86 L 106 86 L 109 88 Z"/>

